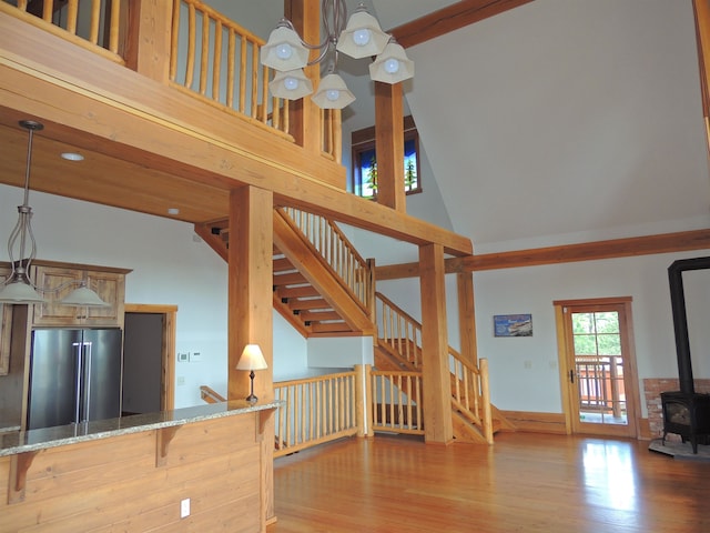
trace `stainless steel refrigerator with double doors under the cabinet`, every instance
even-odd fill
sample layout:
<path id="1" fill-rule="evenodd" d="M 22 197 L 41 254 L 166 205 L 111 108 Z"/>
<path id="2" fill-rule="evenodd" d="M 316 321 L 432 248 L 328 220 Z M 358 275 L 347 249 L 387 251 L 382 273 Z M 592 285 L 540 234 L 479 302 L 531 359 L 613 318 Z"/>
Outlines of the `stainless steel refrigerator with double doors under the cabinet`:
<path id="1" fill-rule="evenodd" d="M 28 429 L 121 415 L 120 329 L 32 331 Z"/>

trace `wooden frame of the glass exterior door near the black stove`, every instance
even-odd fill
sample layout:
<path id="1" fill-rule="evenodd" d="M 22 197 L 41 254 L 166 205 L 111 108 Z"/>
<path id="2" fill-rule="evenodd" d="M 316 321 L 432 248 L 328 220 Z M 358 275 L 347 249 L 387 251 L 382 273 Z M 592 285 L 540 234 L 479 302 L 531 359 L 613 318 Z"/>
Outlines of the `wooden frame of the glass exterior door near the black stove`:
<path id="1" fill-rule="evenodd" d="M 619 329 L 621 334 L 623 359 L 625 388 L 627 395 L 627 419 L 628 425 L 620 426 L 620 430 L 613 431 L 611 424 L 598 424 L 599 428 L 591 429 L 591 433 L 607 436 L 631 436 L 640 438 L 640 419 L 641 419 L 641 398 L 639 393 L 638 370 L 636 364 L 636 345 L 633 341 L 633 316 L 631 314 L 631 296 L 617 298 L 592 298 L 584 300 L 556 300 L 555 322 L 557 326 L 557 350 L 559 361 L 559 379 L 560 392 L 562 396 L 562 409 L 565 412 L 565 429 L 567 434 L 590 433 L 587 424 L 585 429 L 580 428 L 579 420 L 575 420 L 575 413 L 578 411 L 576 403 L 578 401 L 576 386 L 569 380 L 570 372 L 575 371 L 575 350 L 572 339 L 568 335 L 566 328 L 566 310 L 575 306 L 592 306 L 592 305 L 616 305 L 621 306 L 623 316 L 620 316 Z M 595 431 L 599 430 L 599 431 Z"/>

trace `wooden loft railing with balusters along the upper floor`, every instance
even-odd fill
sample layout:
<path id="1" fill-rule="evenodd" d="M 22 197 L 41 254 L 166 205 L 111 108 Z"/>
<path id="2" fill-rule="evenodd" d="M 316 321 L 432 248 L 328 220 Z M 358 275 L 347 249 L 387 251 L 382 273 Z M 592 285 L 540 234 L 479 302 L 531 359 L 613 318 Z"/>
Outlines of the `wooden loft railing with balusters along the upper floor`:
<path id="1" fill-rule="evenodd" d="M 288 101 L 268 94 L 272 70 L 258 62 L 263 39 L 200 0 L 156 4 L 155 17 L 172 19 L 170 54 L 164 58 L 168 79 L 159 81 L 295 141 L 290 133 L 293 111 Z M 0 0 L 0 12 L 126 66 L 130 49 L 164 38 L 160 23 L 144 23 L 133 12 L 139 6 L 131 0 Z M 140 72 L 138 66 L 131 68 Z M 341 111 L 322 110 L 320 117 L 321 135 L 315 142 L 322 155 L 339 163 Z"/>

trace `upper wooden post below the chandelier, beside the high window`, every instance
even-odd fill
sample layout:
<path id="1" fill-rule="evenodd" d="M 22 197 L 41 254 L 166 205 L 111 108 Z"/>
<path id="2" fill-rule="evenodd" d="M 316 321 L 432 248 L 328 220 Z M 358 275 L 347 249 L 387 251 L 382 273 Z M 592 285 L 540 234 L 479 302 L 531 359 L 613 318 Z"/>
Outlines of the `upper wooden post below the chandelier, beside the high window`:
<path id="1" fill-rule="evenodd" d="M 375 82 L 377 202 L 407 211 L 404 190 L 404 117 L 402 83 Z"/>

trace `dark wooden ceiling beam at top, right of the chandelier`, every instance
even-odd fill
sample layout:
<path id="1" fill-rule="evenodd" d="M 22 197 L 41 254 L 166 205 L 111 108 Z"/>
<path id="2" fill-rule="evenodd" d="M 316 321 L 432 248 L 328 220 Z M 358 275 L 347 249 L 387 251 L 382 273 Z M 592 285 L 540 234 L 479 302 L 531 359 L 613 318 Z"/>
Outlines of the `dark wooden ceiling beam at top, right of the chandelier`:
<path id="1" fill-rule="evenodd" d="M 462 0 L 388 31 L 404 48 L 420 44 L 532 0 Z"/>

